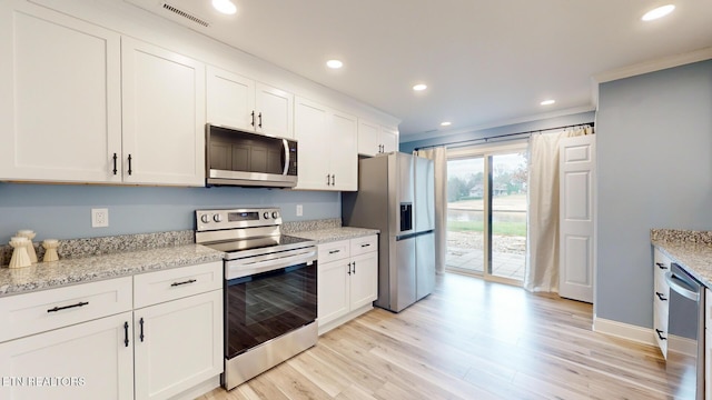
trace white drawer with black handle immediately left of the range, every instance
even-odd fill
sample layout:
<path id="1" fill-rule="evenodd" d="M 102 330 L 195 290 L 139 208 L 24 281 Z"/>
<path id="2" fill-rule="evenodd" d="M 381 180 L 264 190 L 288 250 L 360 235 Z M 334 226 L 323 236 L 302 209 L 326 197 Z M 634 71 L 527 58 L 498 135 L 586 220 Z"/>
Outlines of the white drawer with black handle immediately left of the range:
<path id="1" fill-rule="evenodd" d="M 222 262 L 175 268 L 134 277 L 134 308 L 222 288 Z"/>

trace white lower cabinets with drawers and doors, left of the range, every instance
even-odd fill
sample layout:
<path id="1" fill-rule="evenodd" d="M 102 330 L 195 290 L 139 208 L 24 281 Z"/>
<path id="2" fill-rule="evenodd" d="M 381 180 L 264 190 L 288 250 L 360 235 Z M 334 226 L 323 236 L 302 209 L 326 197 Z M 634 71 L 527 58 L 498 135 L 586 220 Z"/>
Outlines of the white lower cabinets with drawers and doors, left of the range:
<path id="1" fill-rule="evenodd" d="M 0 298 L 0 399 L 168 399 L 222 372 L 222 262 Z"/>

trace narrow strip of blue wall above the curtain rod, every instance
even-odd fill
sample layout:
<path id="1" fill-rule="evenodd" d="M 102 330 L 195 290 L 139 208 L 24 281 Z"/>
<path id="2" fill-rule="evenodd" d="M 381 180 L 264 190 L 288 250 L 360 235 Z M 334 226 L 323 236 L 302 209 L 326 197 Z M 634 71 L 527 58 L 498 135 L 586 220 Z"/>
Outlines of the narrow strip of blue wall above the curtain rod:
<path id="1" fill-rule="evenodd" d="M 413 152 L 415 148 L 426 147 L 426 146 L 438 146 L 442 143 L 458 142 L 463 140 L 491 138 L 500 134 L 528 132 L 528 131 L 536 131 L 540 129 L 550 129 L 550 128 L 565 127 L 565 126 L 578 124 L 578 123 L 590 123 L 590 122 L 593 122 L 594 118 L 595 118 L 595 111 L 589 111 L 589 112 L 574 113 L 570 116 L 541 119 L 537 121 L 515 123 L 515 124 L 497 127 L 497 128 L 475 130 L 475 131 L 456 133 L 456 134 L 445 134 L 445 136 L 439 136 L 433 139 L 404 141 L 404 140 L 407 140 L 407 138 L 400 138 L 402 140 L 400 151 Z"/>

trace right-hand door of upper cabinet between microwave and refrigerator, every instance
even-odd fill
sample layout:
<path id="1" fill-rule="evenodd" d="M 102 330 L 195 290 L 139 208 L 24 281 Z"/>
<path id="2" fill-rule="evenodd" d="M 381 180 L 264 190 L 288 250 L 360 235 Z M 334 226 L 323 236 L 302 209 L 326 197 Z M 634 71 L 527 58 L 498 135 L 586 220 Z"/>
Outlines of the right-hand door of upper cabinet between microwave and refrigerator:
<path id="1" fill-rule="evenodd" d="M 333 111 L 326 141 L 329 143 L 332 190 L 358 189 L 358 152 L 356 117 Z"/>

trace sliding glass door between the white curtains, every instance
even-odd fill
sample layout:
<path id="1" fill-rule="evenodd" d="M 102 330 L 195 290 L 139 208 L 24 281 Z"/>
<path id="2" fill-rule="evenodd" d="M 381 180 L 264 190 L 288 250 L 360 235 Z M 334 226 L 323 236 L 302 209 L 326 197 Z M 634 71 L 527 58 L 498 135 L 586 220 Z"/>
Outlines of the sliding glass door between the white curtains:
<path id="1" fill-rule="evenodd" d="M 521 284 L 526 254 L 526 144 L 453 151 L 451 157 L 446 268 Z"/>

